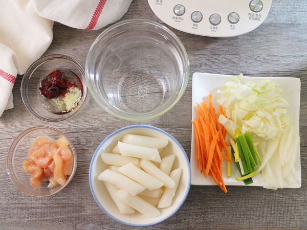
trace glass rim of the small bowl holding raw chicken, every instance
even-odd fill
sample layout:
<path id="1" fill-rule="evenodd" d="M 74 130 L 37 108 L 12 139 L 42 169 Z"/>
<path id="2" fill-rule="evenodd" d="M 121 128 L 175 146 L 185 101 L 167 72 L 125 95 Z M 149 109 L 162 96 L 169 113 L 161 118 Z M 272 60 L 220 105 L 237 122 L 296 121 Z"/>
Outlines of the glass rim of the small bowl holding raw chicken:
<path id="1" fill-rule="evenodd" d="M 13 158 L 13 150 L 15 149 L 16 145 L 20 142 L 20 140 L 25 136 L 27 135 L 28 133 L 34 131 L 34 130 L 37 130 L 37 129 L 49 129 L 49 130 L 52 130 L 52 131 L 56 131 L 57 133 L 59 133 L 60 135 L 64 136 L 65 139 L 68 140 L 68 143 L 72 149 L 72 154 L 73 154 L 73 168 L 72 168 L 72 172 L 71 174 L 69 175 L 67 181 L 65 182 L 64 186 L 61 186 L 58 190 L 56 190 L 55 192 L 51 193 L 51 194 L 47 194 L 47 195 L 36 195 L 35 193 L 28 193 L 26 192 L 26 190 L 24 190 L 24 187 L 22 185 L 20 185 L 20 183 L 17 182 L 16 180 L 16 175 L 13 171 L 13 168 L 9 168 L 9 163 L 12 162 L 12 158 Z M 17 189 L 19 189 L 21 192 L 27 194 L 27 195 L 30 195 L 30 196 L 34 196 L 34 197 L 48 197 L 48 196 L 52 196 L 56 193 L 58 193 L 59 191 L 61 191 L 62 189 L 64 189 L 69 183 L 70 181 L 73 179 L 74 175 L 75 175 L 75 172 L 76 172 L 76 169 L 77 169 L 77 152 L 74 148 L 74 145 L 73 143 L 71 142 L 71 140 L 68 138 L 67 135 L 65 135 L 63 132 L 59 131 L 58 129 L 56 128 L 52 128 L 52 127 L 49 127 L 49 126 L 45 126 L 45 125 L 39 125 L 39 126 L 33 126 L 33 127 L 30 127 L 26 130 L 24 130 L 23 132 L 21 132 L 20 134 L 18 134 L 18 136 L 15 137 L 14 141 L 12 142 L 9 150 L 8 150 L 8 154 L 7 154 L 7 160 L 6 160 L 6 167 L 7 167 L 7 172 L 9 174 L 9 177 L 11 179 L 11 181 L 13 182 L 13 184 L 15 185 L 15 187 Z"/>

